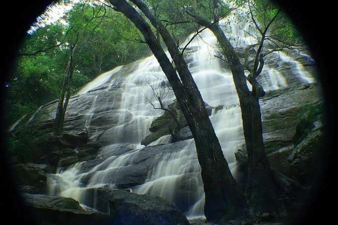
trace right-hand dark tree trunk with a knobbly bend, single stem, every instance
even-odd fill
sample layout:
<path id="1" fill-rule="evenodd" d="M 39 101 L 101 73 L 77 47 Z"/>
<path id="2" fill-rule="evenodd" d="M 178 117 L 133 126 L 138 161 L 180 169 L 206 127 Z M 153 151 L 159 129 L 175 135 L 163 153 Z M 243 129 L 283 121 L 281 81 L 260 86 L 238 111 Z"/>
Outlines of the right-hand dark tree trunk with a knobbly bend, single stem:
<path id="1" fill-rule="evenodd" d="M 207 26 L 214 33 L 233 75 L 241 106 L 243 131 L 248 152 L 249 168 L 246 195 L 251 213 L 257 215 L 263 212 L 277 212 L 278 203 L 272 182 L 270 164 L 263 144 L 259 105 L 261 95 L 258 94 L 260 86 L 255 85 L 256 80 L 253 80 L 253 91 L 248 89 L 244 68 L 219 24 L 217 22 L 211 23 L 195 15 L 192 15 L 192 17 L 197 23 Z"/>

